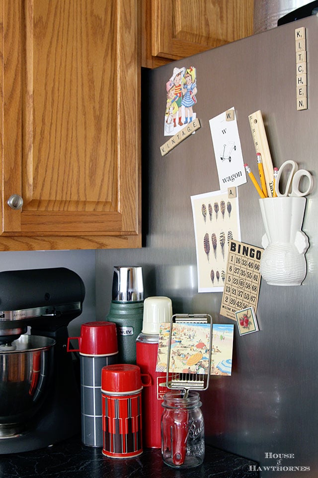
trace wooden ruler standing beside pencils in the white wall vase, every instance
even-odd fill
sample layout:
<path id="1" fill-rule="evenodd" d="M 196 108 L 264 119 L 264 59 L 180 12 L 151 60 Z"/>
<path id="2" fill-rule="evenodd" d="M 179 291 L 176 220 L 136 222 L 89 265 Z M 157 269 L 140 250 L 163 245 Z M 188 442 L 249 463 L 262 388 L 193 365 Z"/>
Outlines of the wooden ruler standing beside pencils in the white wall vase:
<path id="1" fill-rule="evenodd" d="M 255 151 L 256 153 L 260 153 L 262 157 L 267 195 L 271 198 L 274 193 L 274 168 L 261 111 L 255 111 L 255 113 L 248 116 L 248 119 Z"/>

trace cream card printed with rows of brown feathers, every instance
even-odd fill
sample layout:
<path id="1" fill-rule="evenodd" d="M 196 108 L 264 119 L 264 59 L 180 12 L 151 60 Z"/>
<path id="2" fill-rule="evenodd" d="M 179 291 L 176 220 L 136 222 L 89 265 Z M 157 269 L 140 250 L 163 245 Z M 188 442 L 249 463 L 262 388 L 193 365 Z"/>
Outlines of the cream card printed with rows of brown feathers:
<path id="1" fill-rule="evenodd" d="M 215 191 L 191 196 L 198 292 L 222 292 L 229 241 L 240 240 L 239 199 Z"/>

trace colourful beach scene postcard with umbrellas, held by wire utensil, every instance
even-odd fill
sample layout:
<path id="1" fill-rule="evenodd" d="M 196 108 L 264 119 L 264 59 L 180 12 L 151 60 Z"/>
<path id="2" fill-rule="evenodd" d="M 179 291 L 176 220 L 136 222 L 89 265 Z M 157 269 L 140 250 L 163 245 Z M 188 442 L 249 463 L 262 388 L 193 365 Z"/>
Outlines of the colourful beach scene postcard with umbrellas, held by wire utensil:
<path id="1" fill-rule="evenodd" d="M 156 371 L 166 372 L 170 323 L 160 324 Z M 234 325 L 213 324 L 212 375 L 231 375 Z M 169 372 L 207 374 L 210 324 L 172 324 Z"/>

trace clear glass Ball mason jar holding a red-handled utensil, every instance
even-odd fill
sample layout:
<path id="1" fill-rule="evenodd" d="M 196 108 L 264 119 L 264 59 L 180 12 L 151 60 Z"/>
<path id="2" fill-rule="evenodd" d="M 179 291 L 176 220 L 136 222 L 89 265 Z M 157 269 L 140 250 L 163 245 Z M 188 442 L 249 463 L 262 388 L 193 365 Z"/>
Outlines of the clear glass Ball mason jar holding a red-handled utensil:
<path id="1" fill-rule="evenodd" d="M 161 416 L 161 454 L 172 468 L 194 468 L 204 460 L 204 420 L 200 395 L 184 390 L 165 393 Z"/>

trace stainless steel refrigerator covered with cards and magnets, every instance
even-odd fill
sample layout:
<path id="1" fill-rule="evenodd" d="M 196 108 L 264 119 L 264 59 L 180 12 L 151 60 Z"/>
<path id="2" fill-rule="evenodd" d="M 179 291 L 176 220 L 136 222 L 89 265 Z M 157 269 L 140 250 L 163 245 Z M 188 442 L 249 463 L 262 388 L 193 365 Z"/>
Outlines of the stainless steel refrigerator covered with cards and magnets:
<path id="1" fill-rule="evenodd" d="M 295 29 L 306 28 L 307 109 L 297 110 Z M 222 292 L 198 293 L 190 197 L 220 189 L 209 120 L 234 107 L 243 159 L 257 176 L 248 116 L 261 111 L 274 166 L 293 159 L 314 177 L 302 230 L 309 238 L 301 286 L 261 280 L 259 332 L 234 333 L 231 376 L 201 393 L 209 444 L 255 460 L 261 477 L 318 476 L 318 18 L 311 16 L 142 75 L 143 237 L 138 250 L 96 255 L 98 320 L 111 301 L 114 265 L 141 265 L 145 297 L 165 295 L 173 312 L 210 313 Z M 196 68 L 201 127 L 162 156 L 166 82 L 174 67 Z M 241 241 L 261 247 L 264 226 L 252 183 L 238 187 Z M 297 468 L 298 467 L 298 468 Z"/>

